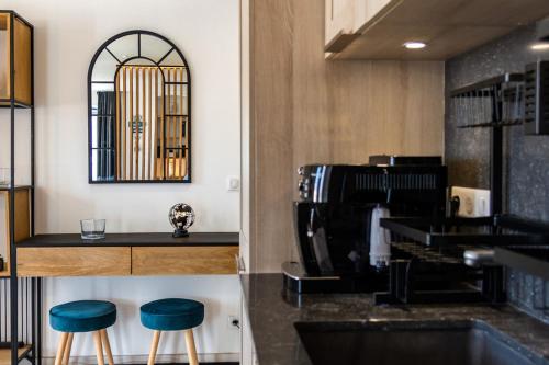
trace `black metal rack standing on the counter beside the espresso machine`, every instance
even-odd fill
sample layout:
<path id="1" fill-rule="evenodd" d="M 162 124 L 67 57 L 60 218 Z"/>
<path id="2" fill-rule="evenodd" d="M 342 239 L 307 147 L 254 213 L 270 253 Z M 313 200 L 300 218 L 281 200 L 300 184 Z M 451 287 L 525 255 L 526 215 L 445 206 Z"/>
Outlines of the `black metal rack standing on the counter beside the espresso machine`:
<path id="1" fill-rule="evenodd" d="M 470 262 L 464 253 L 494 248 L 522 252 L 549 241 L 548 225 L 515 216 L 384 218 L 380 224 L 391 231 L 394 259 L 389 292 L 374 295 L 378 304 L 503 304 L 503 266 L 491 261 Z M 549 251 L 544 252 L 549 258 Z"/>

